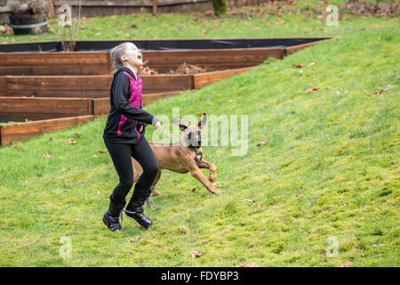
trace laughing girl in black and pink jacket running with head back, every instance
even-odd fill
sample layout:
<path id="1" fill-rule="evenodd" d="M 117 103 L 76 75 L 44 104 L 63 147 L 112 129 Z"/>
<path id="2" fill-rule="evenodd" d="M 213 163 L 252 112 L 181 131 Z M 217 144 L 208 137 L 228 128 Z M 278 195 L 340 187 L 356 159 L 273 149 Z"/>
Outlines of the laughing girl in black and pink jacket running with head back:
<path id="1" fill-rule="evenodd" d="M 103 139 L 113 160 L 119 183 L 109 198 L 108 211 L 103 222 L 112 232 L 121 230 L 119 215 L 127 216 L 148 228 L 152 221 L 143 214 L 143 204 L 150 196 L 150 186 L 156 178 L 158 164 L 154 152 L 146 140 L 145 128 L 148 124 L 160 128 L 159 120 L 141 109 L 141 79 L 138 70 L 143 66 L 141 51 L 132 43 L 123 43 L 111 52 L 116 73 L 111 84 L 110 105 Z M 125 197 L 133 185 L 132 158 L 143 168 L 135 184 L 132 198 L 126 209 Z"/>

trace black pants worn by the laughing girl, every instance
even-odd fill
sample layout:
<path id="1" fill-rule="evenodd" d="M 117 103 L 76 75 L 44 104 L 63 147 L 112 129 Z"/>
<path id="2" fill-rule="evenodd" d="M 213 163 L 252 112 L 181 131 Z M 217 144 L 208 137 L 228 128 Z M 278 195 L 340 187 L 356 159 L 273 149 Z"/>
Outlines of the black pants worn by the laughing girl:
<path id="1" fill-rule="evenodd" d="M 131 203 L 133 207 L 142 207 L 148 196 L 150 196 L 150 187 L 159 170 L 156 157 L 148 141 L 143 136 L 136 144 L 108 141 L 104 141 L 104 143 L 119 176 L 119 183 L 116 185 L 110 199 L 116 204 L 125 202 L 125 197 L 131 191 L 133 185 L 132 158 L 134 158 L 140 163 L 143 173 L 135 184 Z"/>

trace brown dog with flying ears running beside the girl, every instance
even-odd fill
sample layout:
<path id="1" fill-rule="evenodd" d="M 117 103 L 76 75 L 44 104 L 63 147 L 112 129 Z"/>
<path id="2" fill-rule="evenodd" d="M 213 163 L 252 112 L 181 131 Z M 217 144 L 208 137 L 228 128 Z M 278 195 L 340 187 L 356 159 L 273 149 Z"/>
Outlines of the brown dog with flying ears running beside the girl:
<path id="1" fill-rule="evenodd" d="M 179 119 L 173 118 L 172 122 L 180 126 L 180 130 L 184 135 L 180 142 L 174 143 L 157 143 L 149 142 L 151 149 L 156 155 L 156 160 L 160 171 L 156 175 L 156 179 L 150 190 L 154 195 L 161 195 L 156 191 L 156 183 L 160 179 L 162 169 L 168 169 L 177 173 L 190 173 L 198 181 L 204 184 L 208 191 L 214 194 L 220 194 L 220 191 L 212 184 L 217 178 L 217 169 L 210 162 L 203 159 L 203 150 L 201 148 L 201 129 L 205 126 L 207 117 L 203 113 L 203 117 L 196 125 L 182 124 Z M 143 169 L 136 159 L 132 159 L 133 180 L 138 181 Z M 208 179 L 203 175 L 200 168 L 210 169 Z"/>

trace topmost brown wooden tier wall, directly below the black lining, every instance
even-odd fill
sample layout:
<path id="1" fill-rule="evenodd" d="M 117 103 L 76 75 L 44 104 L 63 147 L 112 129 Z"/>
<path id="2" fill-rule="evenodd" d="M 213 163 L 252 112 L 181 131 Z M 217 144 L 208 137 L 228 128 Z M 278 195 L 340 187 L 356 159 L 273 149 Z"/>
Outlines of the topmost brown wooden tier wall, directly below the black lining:
<path id="1" fill-rule="evenodd" d="M 142 53 L 148 68 L 166 73 L 184 62 L 210 70 L 252 67 L 268 57 L 283 59 L 285 51 L 283 48 L 235 48 Z M 108 52 L 0 53 L 0 76 L 110 75 L 113 71 Z"/>

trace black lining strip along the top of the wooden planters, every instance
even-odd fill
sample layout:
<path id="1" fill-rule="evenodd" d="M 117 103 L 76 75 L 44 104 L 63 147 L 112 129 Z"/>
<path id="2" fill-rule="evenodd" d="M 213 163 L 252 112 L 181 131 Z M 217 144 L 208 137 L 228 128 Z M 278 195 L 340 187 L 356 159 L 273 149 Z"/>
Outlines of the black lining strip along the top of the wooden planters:
<path id="1" fill-rule="evenodd" d="M 303 45 L 329 37 L 308 38 L 257 38 L 257 39 L 177 39 L 177 40 L 132 40 L 142 51 L 225 49 L 225 48 L 284 48 Z M 128 40 L 77 41 L 75 52 L 104 52 Z M 0 53 L 62 52 L 60 42 L 37 42 L 0 45 Z"/>

